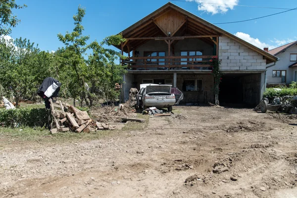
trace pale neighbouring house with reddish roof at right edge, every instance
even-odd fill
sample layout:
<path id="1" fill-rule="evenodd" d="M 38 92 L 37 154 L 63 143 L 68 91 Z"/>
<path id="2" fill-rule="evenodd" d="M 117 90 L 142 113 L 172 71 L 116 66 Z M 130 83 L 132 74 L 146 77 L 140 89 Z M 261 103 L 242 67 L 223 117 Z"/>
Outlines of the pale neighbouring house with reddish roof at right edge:
<path id="1" fill-rule="evenodd" d="M 268 51 L 268 48 L 264 49 Z M 288 85 L 297 81 L 297 41 L 268 51 L 280 58 L 277 64 L 267 69 L 267 87 Z"/>

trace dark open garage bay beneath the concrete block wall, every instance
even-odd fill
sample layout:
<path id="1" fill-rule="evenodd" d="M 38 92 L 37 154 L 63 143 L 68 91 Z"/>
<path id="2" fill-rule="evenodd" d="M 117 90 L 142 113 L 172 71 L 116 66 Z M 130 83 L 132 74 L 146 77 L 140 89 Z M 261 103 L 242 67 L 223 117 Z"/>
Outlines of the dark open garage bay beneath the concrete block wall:
<path id="1" fill-rule="evenodd" d="M 221 105 L 256 106 L 260 98 L 261 74 L 224 74 L 220 83 Z"/>

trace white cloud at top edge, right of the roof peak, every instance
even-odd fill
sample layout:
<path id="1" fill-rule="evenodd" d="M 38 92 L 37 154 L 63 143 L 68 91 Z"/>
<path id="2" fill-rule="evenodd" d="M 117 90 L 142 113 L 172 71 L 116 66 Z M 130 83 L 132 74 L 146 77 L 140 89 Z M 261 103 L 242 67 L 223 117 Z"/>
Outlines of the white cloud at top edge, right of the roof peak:
<path id="1" fill-rule="evenodd" d="M 198 10 L 206 11 L 212 14 L 225 13 L 233 9 L 239 0 L 187 0 L 198 3 Z"/>

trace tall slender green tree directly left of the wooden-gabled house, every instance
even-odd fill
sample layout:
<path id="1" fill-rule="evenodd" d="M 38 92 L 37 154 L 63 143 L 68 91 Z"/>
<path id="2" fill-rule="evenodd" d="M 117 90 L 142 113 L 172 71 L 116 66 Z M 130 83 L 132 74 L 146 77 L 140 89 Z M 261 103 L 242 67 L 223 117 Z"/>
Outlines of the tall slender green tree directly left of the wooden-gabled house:
<path id="1" fill-rule="evenodd" d="M 82 26 L 85 13 L 85 8 L 79 6 L 77 14 L 73 16 L 73 32 L 66 32 L 65 36 L 58 34 L 59 40 L 65 45 L 65 48 L 59 49 L 58 52 L 61 57 L 59 77 L 69 88 L 73 99 L 81 97 L 87 105 L 92 106 L 94 99 L 99 98 L 99 93 L 103 94 L 105 99 L 113 99 L 119 94 L 116 92 L 115 83 L 122 83 L 124 68 L 115 61 L 124 56 L 103 46 L 119 45 L 126 40 L 122 35 L 113 35 L 106 37 L 100 44 L 94 41 L 88 45 L 90 37 L 83 36 Z M 88 49 L 93 51 L 89 56 Z M 88 59 L 85 59 L 85 56 Z M 89 84 L 90 89 L 87 86 Z"/>

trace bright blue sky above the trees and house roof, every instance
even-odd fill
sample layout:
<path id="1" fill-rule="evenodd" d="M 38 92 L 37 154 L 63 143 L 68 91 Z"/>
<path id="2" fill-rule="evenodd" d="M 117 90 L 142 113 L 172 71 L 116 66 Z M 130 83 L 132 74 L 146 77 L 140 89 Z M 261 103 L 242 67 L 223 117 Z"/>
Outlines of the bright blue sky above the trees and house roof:
<path id="1" fill-rule="evenodd" d="M 83 20 L 84 34 L 90 35 L 90 41 L 96 39 L 100 42 L 106 36 L 117 34 L 139 21 L 167 3 L 168 0 L 16 0 L 16 2 L 25 3 L 28 7 L 13 10 L 21 23 L 13 28 L 10 36 L 13 39 L 19 37 L 30 39 L 31 42 L 39 44 L 40 49 L 51 51 L 63 46 L 57 38 L 58 33 L 65 34 L 66 31 L 73 30 L 72 16 L 76 13 L 79 4 L 86 7 L 86 16 Z M 187 2 L 171 2 L 211 23 L 246 20 L 285 10 L 223 6 L 203 2 L 281 8 L 297 7 L 296 0 L 187 0 Z M 218 26 L 257 47 L 272 49 L 297 40 L 296 15 L 297 10 L 293 10 L 254 21 Z"/>

